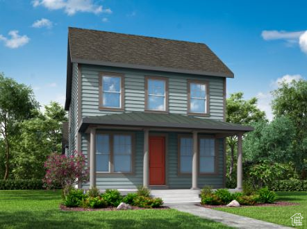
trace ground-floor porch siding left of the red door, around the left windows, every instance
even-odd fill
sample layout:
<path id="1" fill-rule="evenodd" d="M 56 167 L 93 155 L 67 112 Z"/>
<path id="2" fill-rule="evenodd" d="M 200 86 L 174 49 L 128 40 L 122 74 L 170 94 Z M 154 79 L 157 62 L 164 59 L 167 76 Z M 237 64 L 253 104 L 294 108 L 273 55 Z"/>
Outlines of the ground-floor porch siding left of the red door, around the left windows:
<path id="1" fill-rule="evenodd" d="M 133 174 L 97 174 L 97 187 L 99 189 L 132 189 L 143 183 L 143 133 L 135 132 L 135 171 Z M 82 152 L 88 156 L 87 135 L 82 135 Z M 89 183 L 83 184 L 88 189 Z"/>

